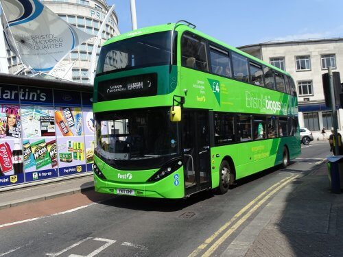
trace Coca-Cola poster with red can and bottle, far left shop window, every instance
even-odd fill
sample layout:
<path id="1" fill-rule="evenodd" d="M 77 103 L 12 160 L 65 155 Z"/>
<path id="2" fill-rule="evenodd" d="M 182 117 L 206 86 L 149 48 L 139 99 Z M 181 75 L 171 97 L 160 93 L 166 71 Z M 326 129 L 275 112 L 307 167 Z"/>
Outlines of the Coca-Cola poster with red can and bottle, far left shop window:
<path id="1" fill-rule="evenodd" d="M 0 138 L 0 187 L 24 182 L 21 140 Z"/>

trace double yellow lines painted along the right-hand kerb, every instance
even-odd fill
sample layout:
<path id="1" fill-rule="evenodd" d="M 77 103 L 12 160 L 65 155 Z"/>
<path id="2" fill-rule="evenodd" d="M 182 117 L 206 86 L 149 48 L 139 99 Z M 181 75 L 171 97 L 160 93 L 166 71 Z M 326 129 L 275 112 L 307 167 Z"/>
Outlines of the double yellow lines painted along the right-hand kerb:
<path id="1" fill-rule="evenodd" d="M 219 230 L 217 230 L 214 234 L 212 234 L 209 238 L 207 238 L 204 243 L 199 245 L 197 249 L 195 249 L 191 254 L 189 254 L 189 257 L 195 257 L 198 256 L 206 247 L 208 247 L 215 239 L 220 236 L 220 238 L 215 241 L 209 249 L 202 254 L 202 256 L 211 256 L 213 252 L 230 236 L 230 234 L 233 234 L 239 226 L 244 223 L 256 210 L 259 208 L 262 204 L 265 203 L 270 197 L 276 194 L 277 191 L 281 190 L 284 186 L 289 184 L 289 182 L 292 182 L 294 179 L 296 179 L 299 175 L 291 175 L 287 178 L 284 178 L 280 182 L 274 184 L 270 188 L 268 188 L 266 191 L 261 193 L 258 197 L 250 201 L 249 204 L 247 204 L 244 208 L 239 210 L 237 214 L 230 219 L 227 223 L 225 223 Z M 251 208 L 251 209 L 250 209 Z M 249 210 L 250 209 L 250 210 Z M 247 210 L 249 210 L 247 212 Z M 244 215 L 244 213 L 246 214 Z M 230 227 L 230 228 L 229 228 Z"/>

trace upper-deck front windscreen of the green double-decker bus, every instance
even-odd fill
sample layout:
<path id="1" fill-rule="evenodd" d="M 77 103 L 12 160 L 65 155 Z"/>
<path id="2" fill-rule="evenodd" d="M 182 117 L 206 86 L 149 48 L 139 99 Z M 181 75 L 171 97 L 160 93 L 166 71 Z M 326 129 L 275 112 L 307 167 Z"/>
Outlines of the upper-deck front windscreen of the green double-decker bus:
<path id="1" fill-rule="evenodd" d="M 97 74 L 170 64 L 170 46 L 169 31 L 136 36 L 105 45 L 100 52 Z"/>

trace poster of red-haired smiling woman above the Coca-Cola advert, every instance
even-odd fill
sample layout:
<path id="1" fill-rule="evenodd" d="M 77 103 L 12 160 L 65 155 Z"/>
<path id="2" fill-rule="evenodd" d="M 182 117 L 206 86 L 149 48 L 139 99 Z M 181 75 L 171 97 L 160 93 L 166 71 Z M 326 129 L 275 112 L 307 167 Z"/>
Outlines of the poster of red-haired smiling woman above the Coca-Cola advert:
<path id="1" fill-rule="evenodd" d="M 0 138 L 21 138 L 19 106 L 2 104 L 0 110 Z"/>

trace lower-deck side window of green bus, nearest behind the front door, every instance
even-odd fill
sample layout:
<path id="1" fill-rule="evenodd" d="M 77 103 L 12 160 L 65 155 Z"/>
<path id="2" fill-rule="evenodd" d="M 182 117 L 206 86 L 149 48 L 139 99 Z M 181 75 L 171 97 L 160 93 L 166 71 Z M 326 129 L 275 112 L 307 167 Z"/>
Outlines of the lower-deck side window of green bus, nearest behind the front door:
<path id="1" fill-rule="evenodd" d="M 217 112 L 214 114 L 215 145 L 235 142 L 233 114 Z"/>

